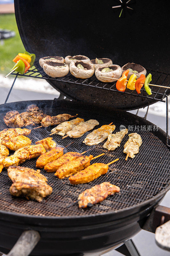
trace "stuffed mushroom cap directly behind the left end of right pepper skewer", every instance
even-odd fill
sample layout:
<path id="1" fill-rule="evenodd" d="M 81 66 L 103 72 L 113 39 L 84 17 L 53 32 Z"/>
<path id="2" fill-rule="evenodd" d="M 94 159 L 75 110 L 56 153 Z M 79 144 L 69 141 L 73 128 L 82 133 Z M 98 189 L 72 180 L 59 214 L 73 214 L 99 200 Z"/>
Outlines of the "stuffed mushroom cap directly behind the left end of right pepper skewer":
<path id="1" fill-rule="evenodd" d="M 109 72 L 102 72 L 103 68 L 110 68 L 111 71 Z M 117 81 L 117 79 L 110 79 L 110 77 L 114 77 L 114 78 L 120 78 L 122 75 L 122 68 L 119 65 L 111 65 L 108 67 L 102 67 L 102 68 L 97 68 L 95 70 L 95 75 L 97 77 L 98 80 L 100 80 L 101 82 L 114 82 Z M 99 77 L 99 76 L 107 76 L 108 78 L 103 78 L 103 77 Z"/>

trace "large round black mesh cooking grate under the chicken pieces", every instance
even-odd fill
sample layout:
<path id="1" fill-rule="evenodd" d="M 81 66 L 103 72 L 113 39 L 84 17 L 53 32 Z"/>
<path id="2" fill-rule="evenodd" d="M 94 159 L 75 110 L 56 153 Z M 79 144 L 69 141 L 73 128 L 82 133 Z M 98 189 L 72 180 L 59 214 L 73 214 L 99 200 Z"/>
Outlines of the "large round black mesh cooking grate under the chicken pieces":
<path id="1" fill-rule="evenodd" d="M 24 111 L 24 109 L 22 109 L 22 111 Z M 19 110 L 19 112 L 22 111 Z M 100 123 L 97 128 L 103 124 L 113 122 L 113 124 L 116 125 L 115 132 L 120 130 L 120 125 L 122 124 L 126 127 L 128 127 L 128 125 L 135 125 L 128 121 L 121 122 L 121 118 L 115 117 L 111 119 L 109 116 L 102 116 L 88 111 L 81 112 L 76 110 L 75 112 L 71 108 L 46 108 L 43 109 L 43 111 L 52 116 L 61 113 L 69 113 L 71 115 L 78 114 L 78 116 L 84 118 L 85 121 L 88 119 L 97 119 Z M 1 113 L 0 130 L 6 128 L 4 121 L 2 121 L 3 116 L 4 113 Z M 37 140 L 48 137 L 50 130 L 51 128 L 49 127 L 47 129 L 41 128 L 33 130 L 29 135 L 32 144 L 35 144 Z M 109 152 L 104 149 L 102 147 L 104 142 L 92 146 L 93 149 L 89 151 L 87 155 L 92 154 L 93 156 L 97 156 L 103 152 L 105 155 L 92 160 L 91 163 L 108 163 L 118 157 L 120 160 L 110 165 L 105 175 L 102 175 L 90 183 L 73 186 L 70 184 L 68 178 L 59 180 L 54 176 L 54 173 L 47 173 L 42 169 L 41 173 L 47 177 L 48 184 L 53 188 L 53 193 L 46 199 L 43 199 L 42 203 L 12 197 L 9 193 L 11 180 L 8 178 L 7 171 L 4 169 L 0 174 L 0 209 L 8 212 L 38 216 L 82 216 L 120 210 L 152 198 L 152 196 L 155 196 L 160 190 L 165 189 L 169 184 L 170 152 L 163 142 L 151 132 L 139 131 L 139 134 L 143 140 L 140 152 L 134 159 L 128 159 L 127 162 L 125 161 L 126 155 L 123 153 L 123 145 L 128 140 L 127 135 L 123 139 L 120 148 L 117 148 L 115 151 Z M 59 135 L 53 135 L 52 137 L 58 145 L 63 147 L 74 141 L 74 143 L 64 149 L 64 153 L 66 153 L 68 151 L 83 152 L 91 148 L 82 143 L 86 135 L 87 134 L 78 139 L 70 139 L 69 137 L 61 139 Z M 35 163 L 36 159 L 32 159 L 23 163 L 22 166 L 36 170 Z M 77 200 L 79 193 L 104 181 L 109 181 L 119 186 L 121 189 L 120 193 L 108 197 L 102 203 L 94 205 L 91 209 L 78 209 L 77 204 L 66 208 L 67 205 Z"/>

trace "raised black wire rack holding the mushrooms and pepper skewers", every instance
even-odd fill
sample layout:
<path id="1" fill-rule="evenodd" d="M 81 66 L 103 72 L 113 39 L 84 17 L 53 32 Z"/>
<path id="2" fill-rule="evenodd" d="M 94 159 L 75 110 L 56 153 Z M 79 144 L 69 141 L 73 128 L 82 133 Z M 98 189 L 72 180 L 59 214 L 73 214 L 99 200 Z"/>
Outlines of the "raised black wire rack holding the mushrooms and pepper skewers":
<path id="1" fill-rule="evenodd" d="M 93 88 L 100 88 L 104 90 L 109 90 L 113 92 L 119 92 L 116 89 L 116 82 L 113 83 L 103 83 L 100 82 L 95 75 L 93 75 L 90 78 L 87 79 L 79 79 L 74 76 L 72 76 L 69 72 L 67 76 L 64 77 L 59 77 L 59 78 L 53 78 L 48 76 L 44 71 L 43 68 L 40 67 L 39 62 L 35 62 L 35 66 L 38 68 L 30 68 L 24 75 L 21 75 L 17 73 L 16 71 L 12 72 L 12 75 L 18 75 L 18 76 L 29 76 L 29 77 L 35 77 L 35 78 L 41 78 L 41 79 L 46 79 L 46 80 L 51 80 L 51 81 L 58 81 L 58 82 L 63 82 L 63 83 L 69 83 L 69 84 L 77 84 L 77 85 L 82 85 L 82 86 L 88 86 L 88 87 L 93 87 Z M 165 72 L 160 72 L 152 69 L 147 70 L 147 74 L 149 73 L 152 74 L 152 84 L 158 84 L 158 85 L 164 85 L 164 86 L 170 86 L 170 74 L 167 74 Z M 152 89 L 152 95 L 148 95 L 146 91 L 144 90 L 144 86 L 141 89 L 141 94 L 137 94 L 136 90 L 131 91 L 129 89 L 126 89 L 125 92 L 119 92 L 119 93 L 125 93 L 125 94 L 132 94 L 137 97 L 142 97 L 146 99 L 154 99 L 158 101 L 163 101 L 165 102 L 164 97 L 168 89 L 166 88 L 161 88 L 161 87 L 156 87 L 156 86 L 150 86 Z M 170 89 L 170 87 L 169 87 Z"/>

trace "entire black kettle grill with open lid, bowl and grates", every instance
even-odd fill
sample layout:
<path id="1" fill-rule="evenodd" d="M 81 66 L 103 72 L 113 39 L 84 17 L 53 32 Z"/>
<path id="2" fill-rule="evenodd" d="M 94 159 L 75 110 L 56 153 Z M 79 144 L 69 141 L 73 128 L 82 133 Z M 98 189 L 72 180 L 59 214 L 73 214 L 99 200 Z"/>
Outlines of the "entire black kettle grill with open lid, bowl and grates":
<path id="1" fill-rule="evenodd" d="M 100 158 L 101 162 L 108 163 L 117 157 L 119 161 L 110 166 L 107 174 L 87 184 L 73 186 L 67 179 L 58 180 L 42 170 L 48 184 L 53 187 L 52 195 L 42 203 L 11 197 L 11 181 L 3 171 L 0 175 L 0 251 L 8 253 L 14 246 L 8 255 L 81 256 L 101 255 L 117 248 L 124 255 L 129 255 L 131 250 L 127 248 L 130 247 L 135 253 L 130 252 L 130 255 L 140 255 L 129 239 L 141 228 L 155 232 L 158 226 L 170 219 L 169 209 L 158 205 L 170 189 L 170 139 L 160 128 L 140 130 L 141 126 L 153 124 L 125 110 L 165 101 L 165 97 L 167 103 L 170 89 L 152 88 L 152 95 L 147 96 L 144 90 L 141 95 L 128 90 L 118 92 L 114 83 L 101 83 L 95 76 L 85 80 L 71 74 L 51 78 L 43 72 L 38 60 L 44 56 L 83 54 L 90 59 L 107 57 L 120 66 L 134 62 L 144 66 L 147 74 L 152 73 L 153 84 L 169 86 L 166 1 L 14 2 L 23 44 L 37 57 L 36 68 L 24 76 L 46 79 L 61 92 L 60 99 L 66 96 L 67 100 L 6 103 L 6 99 L 6 104 L 1 105 L 1 130 L 6 128 L 3 116 L 7 111 L 16 109 L 23 112 L 26 106 L 34 103 L 52 116 L 78 113 L 85 120 L 97 119 L 100 126 L 114 122 L 115 132 L 121 125 L 126 128 L 133 126 L 133 131 L 141 135 L 143 144 L 139 154 L 127 162 L 122 152 L 123 142 L 118 150 L 112 152 L 104 152 L 102 143 L 93 147 L 90 154 L 105 153 Z M 112 8 L 117 5 L 120 7 Z M 13 74 L 15 79 L 19 75 Z M 50 127 L 34 130 L 30 136 L 32 142 L 48 137 L 50 130 Z M 64 147 L 70 145 L 64 149 L 65 152 L 83 152 L 88 149 L 82 143 L 84 137 L 72 144 L 69 137 L 61 140 L 59 135 L 55 135 L 54 140 Z M 22 165 L 35 169 L 35 162 L 32 159 Z M 94 162 L 99 162 L 99 159 Z M 103 181 L 119 186 L 121 192 L 92 208 L 78 209 L 78 205 L 73 204 L 79 193 Z M 159 239 L 157 243 L 163 246 Z M 168 250 L 165 244 L 163 248 Z"/>

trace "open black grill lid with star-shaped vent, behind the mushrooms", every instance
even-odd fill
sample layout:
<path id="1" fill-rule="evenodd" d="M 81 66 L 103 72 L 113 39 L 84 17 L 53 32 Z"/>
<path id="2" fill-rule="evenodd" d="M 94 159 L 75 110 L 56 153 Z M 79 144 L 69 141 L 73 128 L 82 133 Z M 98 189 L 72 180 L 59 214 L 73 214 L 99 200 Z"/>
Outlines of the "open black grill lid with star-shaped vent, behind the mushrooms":
<path id="1" fill-rule="evenodd" d="M 141 64 L 148 71 L 159 70 L 153 82 L 170 83 L 168 63 L 168 10 L 163 3 L 151 0 L 46 1 L 15 2 L 19 33 L 27 51 L 40 57 L 83 54 L 90 59 L 110 58 L 113 64 Z M 122 7 L 112 8 L 121 5 Z M 159 6 L 158 6 L 159 5 Z M 127 8 L 134 9 L 131 10 Z M 119 14 L 122 11 L 122 16 Z M 152 11 L 151 11 L 152 10 Z M 158 80 L 157 80 L 158 79 Z M 100 106 L 135 109 L 155 100 L 125 95 L 100 88 L 48 81 L 55 89 L 74 100 L 95 102 Z M 155 89 L 155 88 L 154 88 Z M 158 88 L 159 93 L 165 90 Z M 166 92 L 169 94 L 170 90 Z"/>

